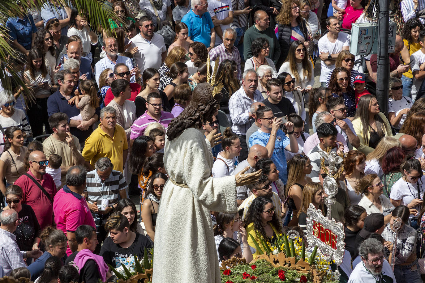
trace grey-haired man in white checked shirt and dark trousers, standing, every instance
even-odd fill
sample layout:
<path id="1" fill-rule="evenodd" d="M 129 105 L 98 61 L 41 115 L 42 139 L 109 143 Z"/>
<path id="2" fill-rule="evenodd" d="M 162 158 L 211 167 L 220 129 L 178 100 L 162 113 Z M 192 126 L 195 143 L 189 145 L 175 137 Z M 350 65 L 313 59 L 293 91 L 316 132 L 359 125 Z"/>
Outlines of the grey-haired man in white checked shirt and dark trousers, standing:
<path id="1" fill-rule="evenodd" d="M 246 145 L 246 131 L 254 123 L 251 113 L 251 104 L 263 101 L 263 95 L 257 90 L 258 73 L 254 69 L 245 70 L 242 74 L 242 86 L 230 97 L 229 114 L 232 119 L 232 131 L 241 140 L 240 160 L 248 157 L 248 146 Z"/>

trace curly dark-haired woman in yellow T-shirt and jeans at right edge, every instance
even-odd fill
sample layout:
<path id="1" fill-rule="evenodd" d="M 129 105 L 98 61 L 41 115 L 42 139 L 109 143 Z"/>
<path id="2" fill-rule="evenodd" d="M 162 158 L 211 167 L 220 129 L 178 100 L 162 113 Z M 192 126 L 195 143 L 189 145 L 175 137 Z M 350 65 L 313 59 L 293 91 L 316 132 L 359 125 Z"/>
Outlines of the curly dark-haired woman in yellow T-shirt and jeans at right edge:
<path id="1" fill-rule="evenodd" d="M 422 48 L 419 43 L 419 32 L 422 31 L 423 28 L 424 25 L 422 22 L 416 18 L 412 18 L 404 23 L 402 32 L 404 47 L 400 53 L 405 65 L 409 65 L 410 56 Z M 412 70 L 409 69 L 407 72 L 403 73 L 401 80 L 403 82 L 403 96 L 411 97 L 413 84 Z"/>

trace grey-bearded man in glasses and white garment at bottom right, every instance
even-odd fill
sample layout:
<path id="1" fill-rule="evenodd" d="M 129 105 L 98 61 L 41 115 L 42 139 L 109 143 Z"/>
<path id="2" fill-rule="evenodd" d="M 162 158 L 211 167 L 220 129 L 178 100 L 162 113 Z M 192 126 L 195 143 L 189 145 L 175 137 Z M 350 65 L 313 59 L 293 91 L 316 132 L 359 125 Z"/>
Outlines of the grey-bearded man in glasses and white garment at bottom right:
<path id="1" fill-rule="evenodd" d="M 374 238 L 368 238 L 360 244 L 359 254 L 362 262 L 351 272 L 348 283 L 366 283 L 380 282 L 393 283 L 396 282 L 394 275 L 382 272 L 382 265 L 386 261 L 383 253 L 383 245 Z"/>

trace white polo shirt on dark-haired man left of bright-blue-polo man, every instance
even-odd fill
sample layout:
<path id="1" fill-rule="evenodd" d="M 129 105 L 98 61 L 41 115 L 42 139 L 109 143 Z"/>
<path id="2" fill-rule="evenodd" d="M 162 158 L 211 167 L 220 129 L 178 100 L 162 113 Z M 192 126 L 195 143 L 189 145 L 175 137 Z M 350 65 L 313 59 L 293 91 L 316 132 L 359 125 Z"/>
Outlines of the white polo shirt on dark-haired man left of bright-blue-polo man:
<path id="1" fill-rule="evenodd" d="M 140 73 L 150 67 L 159 70 L 162 64 L 161 54 L 167 51 L 164 37 L 154 33 L 152 39 L 147 41 L 140 34 L 137 34 L 131 39 L 130 49 L 136 46 L 139 50 L 134 54 L 134 58 Z"/>

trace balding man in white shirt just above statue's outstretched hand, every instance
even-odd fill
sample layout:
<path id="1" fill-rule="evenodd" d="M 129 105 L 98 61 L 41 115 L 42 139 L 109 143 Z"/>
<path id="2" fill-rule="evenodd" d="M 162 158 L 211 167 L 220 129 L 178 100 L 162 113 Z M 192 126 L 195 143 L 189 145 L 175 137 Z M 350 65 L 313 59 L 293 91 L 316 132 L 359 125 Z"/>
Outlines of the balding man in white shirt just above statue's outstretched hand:
<path id="1" fill-rule="evenodd" d="M 244 161 L 241 161 L 238 164 L 238 166 L 236 166 L 235 171 L 233 171 L 232 175 L 238 174 L 240 171 L 244 170 L 244 168 L 246 168 L 247 166 L 249 166 L 249 169 L 245 173 L 255 172 L 255 165 L 257 164 L 258 160 L 267 158 L 267 157 L 269 157 L 269 152 L 264 146 L 261 146 L 259 144 L 255 144 L 251 146 L 251 148 L 248 151 L 248 158 L 246 158 Z M 244 199 L 248 197 L 248 187 L 247 186 L 237 187 L 236 192 L 237 192 L 236 202 L 238 202 L 238 206 L 239 206 L 242 204 L 242 202 L 244 202 Z"/>

